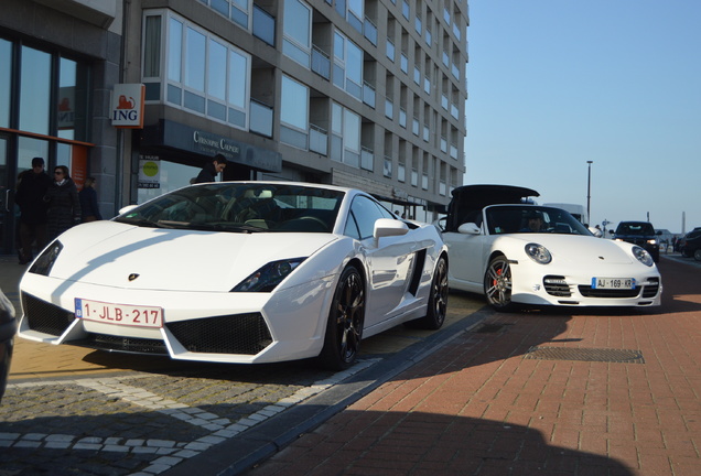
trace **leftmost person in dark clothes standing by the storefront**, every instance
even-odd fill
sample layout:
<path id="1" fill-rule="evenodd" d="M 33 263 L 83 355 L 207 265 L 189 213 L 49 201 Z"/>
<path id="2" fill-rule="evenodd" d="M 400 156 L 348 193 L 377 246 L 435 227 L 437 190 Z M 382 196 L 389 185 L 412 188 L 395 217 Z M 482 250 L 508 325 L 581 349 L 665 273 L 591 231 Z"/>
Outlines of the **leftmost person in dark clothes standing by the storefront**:
<path id="1" fill-rule="evenodd" d="M 32 244 L 39 250 L 46 246 L 46 209 L 44 195 L 51 186 L 51 177 L 44 172 L 44 159 L 32 159 L 32 169 L 19 177 L 14 203 L 20 206 L 20 264 L 32 260 Z"/>

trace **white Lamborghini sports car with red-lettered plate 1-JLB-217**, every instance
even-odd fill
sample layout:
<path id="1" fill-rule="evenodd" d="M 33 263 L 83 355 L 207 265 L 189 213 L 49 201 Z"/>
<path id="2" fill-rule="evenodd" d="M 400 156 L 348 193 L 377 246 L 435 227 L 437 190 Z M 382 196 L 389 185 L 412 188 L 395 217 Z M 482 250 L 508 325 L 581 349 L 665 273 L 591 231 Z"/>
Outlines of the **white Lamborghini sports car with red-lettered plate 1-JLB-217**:
<path id="1" fill-rule="evenodd" d="M 343 369 L 360 338 L 443 324 L 447 256 L 434 226 L 357 190 L 220 182 L 69 229 L 20 292 L 32 340 Z"/>

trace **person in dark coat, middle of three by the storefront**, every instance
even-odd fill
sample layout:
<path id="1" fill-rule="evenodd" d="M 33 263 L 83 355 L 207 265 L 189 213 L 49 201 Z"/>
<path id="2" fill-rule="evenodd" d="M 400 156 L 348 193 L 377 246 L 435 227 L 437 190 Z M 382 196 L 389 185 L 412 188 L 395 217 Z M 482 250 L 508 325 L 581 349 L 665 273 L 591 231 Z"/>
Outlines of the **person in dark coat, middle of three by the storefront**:
<path id="1" fill-rule="evenodd" d="M 48 204 L 46 228 L 48 240 L 80 223 L 80 201 L 78 188 L 68 175 L 68 167 L 54 169 L 54 182 L 46 191 L 44 201 Z"/>

